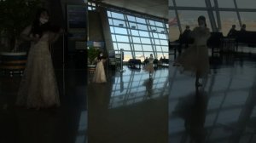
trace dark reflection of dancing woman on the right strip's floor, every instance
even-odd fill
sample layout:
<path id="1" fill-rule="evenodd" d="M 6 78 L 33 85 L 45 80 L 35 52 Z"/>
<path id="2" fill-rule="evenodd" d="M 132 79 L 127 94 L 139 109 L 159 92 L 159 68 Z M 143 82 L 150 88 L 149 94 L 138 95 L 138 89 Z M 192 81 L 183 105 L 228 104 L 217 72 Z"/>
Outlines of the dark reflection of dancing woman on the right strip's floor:
<path id="1" fill-rule="evenodd" d="M 190 136 L 190 143 L 204 143 L 204 124 L 207 114 L 207 94 L 196 92 L 181 98 L 173 114 L 184 119 L 184 126 Z"/>

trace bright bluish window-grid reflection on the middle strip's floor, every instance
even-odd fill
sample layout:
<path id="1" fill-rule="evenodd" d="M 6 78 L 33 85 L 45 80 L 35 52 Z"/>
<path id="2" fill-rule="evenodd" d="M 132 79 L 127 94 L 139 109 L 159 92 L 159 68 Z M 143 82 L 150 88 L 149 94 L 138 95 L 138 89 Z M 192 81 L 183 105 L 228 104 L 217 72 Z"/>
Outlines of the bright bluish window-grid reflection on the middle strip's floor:
<path id="1" fill-rule="evenodd" d="M 168 94 L 168 68 L 161 68 L 149 77 L 148 72 L 124 67 L 113 78 L 109 108 L 128 106 Z"/>

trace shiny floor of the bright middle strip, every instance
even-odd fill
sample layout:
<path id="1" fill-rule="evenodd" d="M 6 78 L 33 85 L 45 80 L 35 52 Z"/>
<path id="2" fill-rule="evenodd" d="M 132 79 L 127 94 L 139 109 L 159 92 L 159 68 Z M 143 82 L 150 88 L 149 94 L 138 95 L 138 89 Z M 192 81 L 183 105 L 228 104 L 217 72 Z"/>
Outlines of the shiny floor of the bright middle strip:
<path id="1" fill-rule="evenodd" d="M 109 70 L 108 83 L 89 83 L 89 143 L 167 142 L 168 72 L 125 66 Z"/>

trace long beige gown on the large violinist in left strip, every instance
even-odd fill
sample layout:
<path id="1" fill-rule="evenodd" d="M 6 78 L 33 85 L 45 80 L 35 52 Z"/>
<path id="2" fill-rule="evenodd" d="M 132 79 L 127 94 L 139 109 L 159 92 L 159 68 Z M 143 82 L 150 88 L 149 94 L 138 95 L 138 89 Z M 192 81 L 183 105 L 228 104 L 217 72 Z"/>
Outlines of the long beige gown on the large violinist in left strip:
<path id="1" fill-rule="evenodd" d="M 31 26 L 28 26 L 23 33 L 30 31 Z M 60 106 L 55 70 L 49 52 L 49 42 L 54 37 L 54 33 L 45 32 L 37 43 L 32 43 L 24 76 L 20 82 L 17 106 L 28 108 Z"/>

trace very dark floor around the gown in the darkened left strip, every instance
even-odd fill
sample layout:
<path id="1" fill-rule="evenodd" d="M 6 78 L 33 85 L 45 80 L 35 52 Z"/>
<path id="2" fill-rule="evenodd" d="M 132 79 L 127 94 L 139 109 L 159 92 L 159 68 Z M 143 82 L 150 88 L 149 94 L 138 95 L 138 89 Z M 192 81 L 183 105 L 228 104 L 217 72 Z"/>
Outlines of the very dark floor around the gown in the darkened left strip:
<path id="1" fill-rule="evenodd" d="M 85 143 L 87 141 L 85 69 L 56 69 L 61 107 L 15 106 L 20 76 L 0 77 L 1 143 Z"/>

